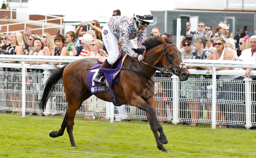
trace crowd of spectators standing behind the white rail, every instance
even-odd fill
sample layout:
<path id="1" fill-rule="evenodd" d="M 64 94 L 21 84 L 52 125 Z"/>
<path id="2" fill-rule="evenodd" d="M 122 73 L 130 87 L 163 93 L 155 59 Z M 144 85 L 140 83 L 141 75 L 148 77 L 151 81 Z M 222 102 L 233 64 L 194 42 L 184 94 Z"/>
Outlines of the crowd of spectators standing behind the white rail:
<path id="1" fill-rule="evenodd" d="M 120 10 L 113 11 L 112 16 L 121 16 Z M 87 30 L 90 28 L 90 30 Z M 255 61 L 256 60 L 256 36 L 248 36 L 249 26 L 244 26 L 242 29 L 238 29 L 237 33 L 229 32 L 229 25 L 225 22 L 220 22 L 219 26 L 213 28 L 212 25 L 205 25 L 203 22 L 198 23 L 198 32 L 190 30 L 190 22 L 186 23 L 186 34 L 181 36 L 180 40 L 180 52 L 183 59 L 207 59 L 207 60 L 241 60 L 241 61 Z M 170 33 L 162 33 L 158 27 L 154 27 L 151 31 L 151 37 L 161 36 L 163 38 L 170 37 Z M 23 55 L 53 55 L 53 56 L 89 56 L 89 57 L 108 57 L 108 52 L 105 48 L 105 44 L 102 40 L 101 26 L 99 21 L 92 20 L 91 22 L 81 22 L 76 28 L 76 31 L 68 31 L 65 34 L 60 32 L 56 33 L 54 39 L 48 33 L 37 35 L 32 33 L 31 28 L 26 28 L 22 33 L 12 32 L 9 35 L 2 33 L 0 39 L 0 51 L 1 54 L 23 54 Z M 136 39 L 134 40 L 136 44 Z M 0 61 L 4 63 L 16 63 L 16 61 Z M 66 63 L 61 62 L 27 62 L 30 65 L 40 64 L 51 64 L 51 65 L 63 65 Z M 204 69 L 209 72 L 210 67 L 187 67 L 192 69 Z M 216 68 L 216 70 L 239 70 L 241 68 Z M 246 77 L 250 77 L 250 72 L 254 70 L 251 68 L 246 69 Z M 3 68 L 3 71 L 7 72 L 20 72 L 19 68 Z M 29 69 L 29 72 L 43 72 L 42 69 Z M 158 74 L 159 75 L 159 74 Z M 156 77 L 158 77 L 156 75 Z M 168 75 L 164 77 L 170 77 Z M 212 79 L 209 74 L 197 75 L 191 74 L 190 79 Z M 223 83 L 221 87 L 218 87 L 221 93 L 218 94 L 217 99 L 220 100 L 244 100 L 244 94 L 242 92 L 242 85 L 235 84 L 235 80 L 243 80 L 242 75 L 220 75 L 219 79 L 229 79 L 234 83 Z M 251 76 L 253 80 L 256 80 L 256 76 Z M 13 82 L 14 78 L 9 76 L 7 81 Z M 43 81 L 37 80 L 37 83 Z M 12 84 L 13 85 L 13 84 Z M 200 100 L 200 99 L 211 99 L 209 93 L 209 86 L 211 83 L 202 83 L 200 81 L 194 82 L 181 82 L 180 83 L 180 98 L 186 98 L 187 103 L 180 105 L 180 110 L 189 111 L 188 113 L 180 113 L 182 117 L 187 117 L 192 122 L 184 122 L 183 124 L 198 126 L 202 111 L 202 108 L 211 111 L 210 103 L 200 103 L 199 101 L 189 100 Z M 7 87 L 11 86 L 7 84 Z M 20 87 L 19 83 L 15 83 L 14 89 L 18 90 Z M 166 87 L 166 86 L 165 86 Z M 168 87 L 169 89 L 170 87 Z M 40 90 L 40 87 L 37 88 Z M 255 87 L 252 87 L 255 91 Z M 64 92 L 64 90 L 61 90 Z M 240 92 L 240 93 L 238 93 Z M 155 95 L 170 95 L 169 92 L 156 92 Z M 8 94 L 10 100 L 19 100 L 21 96 Z M 37 96 L 40 97 L 40 96 Z M 255 99 L 255 97 L 253 97 Z M 57 99 L 56 102 L 65 102 L 65 100 Z M 91 101 L 88 100 L 87 103 Z M 12 101 L 12 107 L 20 108 L 19 104 Z M 97 105 L 97 101 L 94 103 Z M 34 105 L 35 108 L 36 105 Z M 171 103 L 168 105 L 171 107 Z M 217 120 L 228 120 L 228 121 L 244 121 L 245 120 L 245 105 L 233 105 L 233 104 L 221 104 L 217 105 L 217 110 L 220 111 Z M 123 106 L 124 107 L 124 106 Z M 122 113 L 123 107 L 118 107 L 119 113 Z M 162 107 L 165 108 L 165 107 Z M 96 110 L 95 110 L 96 109 Z M 255 110 L 255 108 L 253 108 Z M 59 110 L 59 109 L 56 109 Z M 102 112 L 105 109 L 89 107 L 85 109 L 89 112 Z M 63 109 L 65 111 L 65 109 Z M 20 114 L 20 111 L 12 111 L 12 113 Z M 30 114 L 33 114 L 31 112 Z M 42 114 L 41 114 L 42 115 Z M 164 112 L 159 114 L 162 117 L 168 117 Z M 164 116 L 165 115 L 165 116 Z M 208 119 L 212 116 L 208 114 Z M 86 116 L 87 119 L 93 119 L 94 116 Z M 122 118 L 125 121 L 130 121 L 127 117 Z M 253 118 L 255 119 L 255 117 Z M 99 118 L 99 120 L 105 120 L 105 118 Z M 221 125 L 217 125 L 221 127 Z M 225 125 L 222 125 L 225 127 Z M 240 124 L 228 124 L 228 128 L 245 128 L 244 125 Z"/>

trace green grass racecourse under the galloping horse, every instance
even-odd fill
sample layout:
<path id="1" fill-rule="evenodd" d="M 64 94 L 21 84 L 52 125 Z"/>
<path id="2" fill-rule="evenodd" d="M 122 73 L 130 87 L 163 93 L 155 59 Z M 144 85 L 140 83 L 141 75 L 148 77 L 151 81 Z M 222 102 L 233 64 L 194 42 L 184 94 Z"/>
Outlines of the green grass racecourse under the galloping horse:
<path id="1" fill-rule="evenodd" d="M 111 132 L 109 121 L 85 120 L 83 116 L 76 116 L 73 135 L 77 147 L 71 147 L 66 130 L 63 136 L 49 137 L 51 130 L 59 130 L 62 120 L 61 115 L 26 115 L 22 118 L 17 114 L 0 113 L 0 157 L 256 157 L 256 130 L 251 129 L 213 130 L 207 124 L 197 127 L 163 125 L 169 140 L 164 146 L 170 152 L 164 153 L 156 147 L 150 125 L 140 120 L 118 122 L 119 126 L 116 125 L 116 130 Z M 95 141 L 97 149 L 86 146 L 90 141 Z M 90 148 L 93 148 L 93 153 Z M 90 153 L 91 156 L 87 156 Z"/>

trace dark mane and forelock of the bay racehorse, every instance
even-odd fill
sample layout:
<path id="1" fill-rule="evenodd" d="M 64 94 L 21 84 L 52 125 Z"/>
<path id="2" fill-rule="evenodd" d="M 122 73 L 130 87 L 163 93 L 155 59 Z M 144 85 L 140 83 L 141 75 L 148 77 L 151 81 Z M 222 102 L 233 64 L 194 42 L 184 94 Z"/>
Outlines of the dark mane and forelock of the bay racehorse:
<path id="1" fill-rule="evenodd" d="M 169 43 L 169 44 L 173 43 L 169 37 L 163 37 L 163 38 L 167 43 Z M 146 51 L 148 51 L 149 49 L 151 49 L 155 46 L 158 46 L 160 44 L 162 44 L 162 42 L 160 40 L 160 36 L 154 36 L 154 37 L 148 38 L 142 43 L 142 45 L 144 45 L 146 47 Z M 135 53 L 138 53 L 138 54 L 143 54 L 144 50 L 145 49 L 143 49 L 143 48 L 133 49 L 133 51 L 135 51 Z"/>

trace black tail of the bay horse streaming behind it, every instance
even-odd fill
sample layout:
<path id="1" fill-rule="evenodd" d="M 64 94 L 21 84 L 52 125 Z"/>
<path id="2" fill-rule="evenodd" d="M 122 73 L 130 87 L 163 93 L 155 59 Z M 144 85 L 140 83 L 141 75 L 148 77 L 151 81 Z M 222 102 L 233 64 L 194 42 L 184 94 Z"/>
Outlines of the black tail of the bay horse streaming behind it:
<path id="1" fill-rule="evenodd" d="M 55 85 L 57 84 L 57 82 L 62 78 L 62 74 L 63 74 L 64 68 L 66 66 L 67 65 L 65 65 L 61 68 L 56 66 L 55 69 L 53 69 L 51 71 L 51 75 L 49 76 L 46 83 L 44 83 L 44 92 L 43 92 L 41 101 L 39 103 L 39 107 L 41 110 L 45 109 L 47 100 L 50 98 L 52 91 L 53 91 Z"/>

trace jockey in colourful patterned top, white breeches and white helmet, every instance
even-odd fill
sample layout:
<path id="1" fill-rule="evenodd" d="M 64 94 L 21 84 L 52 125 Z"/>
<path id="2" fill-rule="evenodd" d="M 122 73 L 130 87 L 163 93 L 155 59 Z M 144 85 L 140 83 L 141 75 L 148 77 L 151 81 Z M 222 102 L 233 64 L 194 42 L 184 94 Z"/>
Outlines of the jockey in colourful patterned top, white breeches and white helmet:
<path id="1" fill-rule="evenodd" d="M 110 68 L 119 57 L 118 44 L 122 47 L 122 51 L 140 62 L 144 60 L 143 55 L 135 53 L 132 48 L 142 48 L 147 34 L 146 27 L 153 23 L 153 15 L 149 10 L 139 11 L 128 16 L 113 16 L 102 28 L 102 39 L 108 51 L 108 58 L 102 63 L 101 68 Z M 138 37 L 137 46 L 133 39 Z M 104 74 L 98 71 L 97 76 L 93 79 L 98 85 L 104 84 L 101 79 Z"/>

